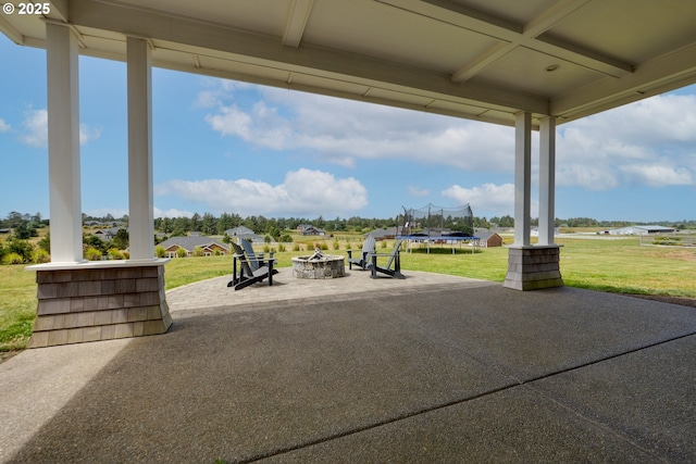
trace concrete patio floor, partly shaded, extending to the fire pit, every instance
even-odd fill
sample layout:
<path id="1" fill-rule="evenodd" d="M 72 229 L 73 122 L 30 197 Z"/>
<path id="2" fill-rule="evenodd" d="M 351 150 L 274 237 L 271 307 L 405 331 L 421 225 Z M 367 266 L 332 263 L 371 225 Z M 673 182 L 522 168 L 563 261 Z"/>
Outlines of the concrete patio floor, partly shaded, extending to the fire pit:
<path id="1" fill-rule="evenodd" d="M 405 271 L 167 292 L 0 364 L 0 461 L 695 462 L 696 310 Z"/>

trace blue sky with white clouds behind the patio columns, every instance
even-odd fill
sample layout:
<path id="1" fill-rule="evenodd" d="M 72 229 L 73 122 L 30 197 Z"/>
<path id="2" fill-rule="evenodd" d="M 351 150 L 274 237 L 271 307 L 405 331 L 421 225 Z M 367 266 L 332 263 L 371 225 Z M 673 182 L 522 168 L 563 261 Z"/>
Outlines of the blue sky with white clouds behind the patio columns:
<path id="1" fill-rule="evenodd" d="M 117 217 L 125 63 L 79 66 L 83 211 Z M 0 34 L 0 216 L 46 217 L 46 52 Z M 152 80 L 156 217 L 390 217 L 428 202 L 513 215 L 511 127 L 158 68 Z M 536 184 L 533 197 L 536 216 Z M 696 218 L 696 86 L 560 125 L 556 216 Z"/>

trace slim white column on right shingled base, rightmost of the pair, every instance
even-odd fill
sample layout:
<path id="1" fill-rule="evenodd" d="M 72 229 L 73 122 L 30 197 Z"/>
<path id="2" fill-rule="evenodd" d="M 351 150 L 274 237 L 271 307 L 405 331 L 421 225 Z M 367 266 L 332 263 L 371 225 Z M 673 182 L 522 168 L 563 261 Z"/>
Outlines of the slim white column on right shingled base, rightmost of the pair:
<path id="1" fill-rule="evenodd" d="M 556 118 L 539 124 L 539 243 L 554 244 L 556 222 Z"/>

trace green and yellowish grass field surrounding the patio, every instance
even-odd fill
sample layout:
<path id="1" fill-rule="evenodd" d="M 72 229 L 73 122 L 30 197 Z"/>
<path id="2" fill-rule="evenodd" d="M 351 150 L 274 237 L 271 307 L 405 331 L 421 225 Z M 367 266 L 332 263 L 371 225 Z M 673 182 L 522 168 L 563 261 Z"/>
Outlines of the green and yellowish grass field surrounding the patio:
<path id="1" fill-rule="evenodd" d="M 347 240 L 346 240 L 347 239 Z M 641 247 L 637 238 L 622 240 L 559 239 L 561 274 L 566 285 L 592 290 L 634 294 L 664 294 L 696 298 L 696 249 L 681 247 Z M 346 243 L 360 250 L 359 239 L 345 237 L 340 249 L 327 241 L 326 253 L 345 254 Z M 311 249 L 311 242 L 303 249 Z M 394 241 L 384 251 L 390 250 Z M 260 249 L 260 247 L 259 247 Z M 288 247 L 291 249 L 291 247 Z M 382 250 L 381 250 L 382 251 Z M 291 258 L 307 251 L 276 253 L 278 266 L 290 266 Z M 506 248 L 472 253 L 468 247 L 452 254 L 434 249 L 431 254 L 413 250 L 401 254 L 401 267 L 502 281 L 507 272 Z M 166 289 L 231 273 L 229 256 L 203 256 L 172 260 L 165 266 Z M 0 352 L 21 350 L 32 333 L 36 313 L 35 274 L 24 265 L 0 266 Z"/>

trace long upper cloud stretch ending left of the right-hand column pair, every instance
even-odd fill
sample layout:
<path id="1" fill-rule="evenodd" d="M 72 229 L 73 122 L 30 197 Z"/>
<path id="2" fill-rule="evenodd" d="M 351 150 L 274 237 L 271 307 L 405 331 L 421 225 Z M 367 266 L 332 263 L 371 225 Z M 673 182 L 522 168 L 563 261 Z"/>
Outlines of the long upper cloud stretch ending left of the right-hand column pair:
<path id="1" fill-rule="evenodd" d="M 221 135 L 258 147 L 310 150 L 350 167 L 359 160 L 406 159 L 471 171 L 511 168 L 510 127 L 262 87 L 256 103 L 243 106 L 235 90 L 199 93 L 200 104 L 214 105 L 206 121 Z"/>

